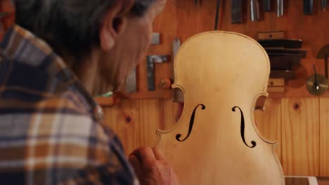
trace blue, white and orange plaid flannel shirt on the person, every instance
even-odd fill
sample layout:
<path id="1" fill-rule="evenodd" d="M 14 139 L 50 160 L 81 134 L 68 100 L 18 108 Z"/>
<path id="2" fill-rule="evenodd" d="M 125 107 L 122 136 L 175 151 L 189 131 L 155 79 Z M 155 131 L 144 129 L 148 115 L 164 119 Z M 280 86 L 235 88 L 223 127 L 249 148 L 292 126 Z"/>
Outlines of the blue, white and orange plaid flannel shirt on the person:
<path id="1" fill-rule="evenodd" d="M 138 184 L 101 108 L 18 25 L 0 46 L 0 184 Z"/>

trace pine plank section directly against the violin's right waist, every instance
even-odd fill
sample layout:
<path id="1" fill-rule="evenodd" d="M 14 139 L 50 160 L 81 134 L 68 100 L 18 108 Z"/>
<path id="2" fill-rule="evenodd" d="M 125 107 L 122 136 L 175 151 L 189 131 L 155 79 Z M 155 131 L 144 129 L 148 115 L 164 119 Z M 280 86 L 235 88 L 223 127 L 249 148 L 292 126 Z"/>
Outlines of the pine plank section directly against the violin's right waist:
<path id="1" fill-rule="evenodd" d="M 264 111 L 255 111 L 254 117 L 257 127 L 259 132 L 261 132 L 266 139 L 278 142 L 278 146 L 276 146 L 276 153 L 280 161 L 282 161 L 281 100 L 267 99 L 264 106 Z"/>

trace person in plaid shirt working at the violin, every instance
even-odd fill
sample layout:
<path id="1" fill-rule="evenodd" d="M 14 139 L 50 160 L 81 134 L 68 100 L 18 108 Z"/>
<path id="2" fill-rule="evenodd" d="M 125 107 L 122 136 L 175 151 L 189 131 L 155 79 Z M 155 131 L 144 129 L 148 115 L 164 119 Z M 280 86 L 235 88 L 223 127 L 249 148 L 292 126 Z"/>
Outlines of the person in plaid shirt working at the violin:
<path id="1" fill-rule="evenodd" d="M 165 0 L 13 2 L 16 25 L 1 43 L 1 184 L 178 184 L 155 148 L 131 153 L 134 173 L 92 99 L 124 84 Z"/>

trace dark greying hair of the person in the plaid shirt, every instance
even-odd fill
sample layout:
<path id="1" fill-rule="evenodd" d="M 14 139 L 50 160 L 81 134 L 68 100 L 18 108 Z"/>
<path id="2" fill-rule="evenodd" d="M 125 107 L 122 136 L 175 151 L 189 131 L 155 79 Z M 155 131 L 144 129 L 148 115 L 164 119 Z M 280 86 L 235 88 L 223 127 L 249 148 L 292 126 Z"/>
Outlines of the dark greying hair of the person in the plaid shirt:
<path id="1" fill-rule="evenodd" d="M 64 50 L 81 58 L 100 45 L 101 22 L 117 1 L 123 0 L 14 0 L 15 22 L 47 41 L 58 54 Z M 132 15 L 142 17 L 155 0 L 132 1 Z"/>

